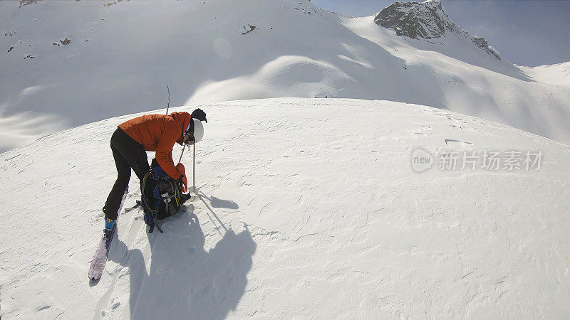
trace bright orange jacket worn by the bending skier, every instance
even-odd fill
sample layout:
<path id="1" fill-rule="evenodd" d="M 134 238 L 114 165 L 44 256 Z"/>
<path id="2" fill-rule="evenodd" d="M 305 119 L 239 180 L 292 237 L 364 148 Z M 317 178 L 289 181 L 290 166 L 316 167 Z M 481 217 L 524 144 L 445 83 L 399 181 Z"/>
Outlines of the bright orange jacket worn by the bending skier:
<path id="1" fill-rule="evenodd" d="M 156 151 L 156 160 L 170 178 L 180 178 L 184 173 L 172 161 L 175 142 L 182 145 L 182 134 L 192 117 L 188 112 L 147 114 L 119 124 L 120 129 L 142 144 L 146 151 Z"/>

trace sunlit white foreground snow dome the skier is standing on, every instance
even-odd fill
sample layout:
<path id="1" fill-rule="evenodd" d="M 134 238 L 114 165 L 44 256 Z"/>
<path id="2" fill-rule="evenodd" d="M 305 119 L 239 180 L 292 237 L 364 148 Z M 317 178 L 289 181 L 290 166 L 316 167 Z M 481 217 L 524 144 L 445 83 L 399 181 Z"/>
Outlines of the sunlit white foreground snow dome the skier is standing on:
<path id="1" fill-rule="evenodd" d="M 569 316 L 569 146 L 401 102 L 199 107 L 200 197 L 149 235 L 133 178 L 98 284 L 87 271 L 115 180 L 109 139 L 138 114 L 0 154 L 2 319 Z M 418 146 L 544 161 L 417 174 Z"/>

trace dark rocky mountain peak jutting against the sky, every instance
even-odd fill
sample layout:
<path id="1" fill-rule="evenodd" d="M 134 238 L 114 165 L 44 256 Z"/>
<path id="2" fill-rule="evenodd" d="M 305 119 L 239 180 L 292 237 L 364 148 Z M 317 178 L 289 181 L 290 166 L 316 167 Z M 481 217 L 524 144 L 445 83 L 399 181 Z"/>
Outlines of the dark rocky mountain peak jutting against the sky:
<path id="1" fill-rule="evenodd" d="M 395 2 L 378 12 L 374 22 L 384 28 L 393 29 L 398 36 L 409 38 L 441 38 L 446 33 L 456 33 L 468 38 L 487 54 L 501 60 L 499 53 L 480 36 L 470 36 L 445 13 L 440 0 L 424 2 Z"/>

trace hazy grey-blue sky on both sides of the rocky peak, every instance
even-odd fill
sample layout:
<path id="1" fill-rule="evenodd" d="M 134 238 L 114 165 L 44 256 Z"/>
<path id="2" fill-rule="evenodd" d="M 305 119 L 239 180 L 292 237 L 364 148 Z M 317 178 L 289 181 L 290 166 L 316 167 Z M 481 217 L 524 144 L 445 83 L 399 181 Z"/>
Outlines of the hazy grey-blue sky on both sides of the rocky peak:
<path id="1" fill-rule="evenodd" d="M 312 0 L 319 8 L 348 16 L 371 16 L 395 1 Z M 570 1 L 442 0 L 450 18 L 482 36 L 517 65 L 570 61 Z"/>

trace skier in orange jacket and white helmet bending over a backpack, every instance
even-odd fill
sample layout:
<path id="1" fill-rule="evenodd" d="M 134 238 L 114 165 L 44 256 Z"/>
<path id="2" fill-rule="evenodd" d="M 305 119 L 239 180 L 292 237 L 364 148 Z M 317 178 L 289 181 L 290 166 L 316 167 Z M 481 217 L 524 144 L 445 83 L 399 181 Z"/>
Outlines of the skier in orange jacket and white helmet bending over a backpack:
<path id="1" fill-rule="evenodd" d="M 181 163 L 174 165 L 172 147 L 175 143 L 190 145 L 199 142 L 204 134 L 204 127 L 200 121 L 208 122 L 204 111 L 196 109 L 192 114 L 188 112 L 172 112 L 169 115 L 148 114 L 119 124 L 110 143 L 117 167 L 117 180 L 103 207 L 105 235 L 112 233 L 123 196 L 128 191 L 130 169 L 135 171 L 140 183 L 150 169 L 146 151 L 156 151 L 156 160 L 162 170 L 170 178 L 178 181 L 184 191 L 187 189 L 188 181 L 184 165 Z M 194 125 L 191 126 L 190 122 Z M 190 130 L 191 127 L 193 131 Z"/>

